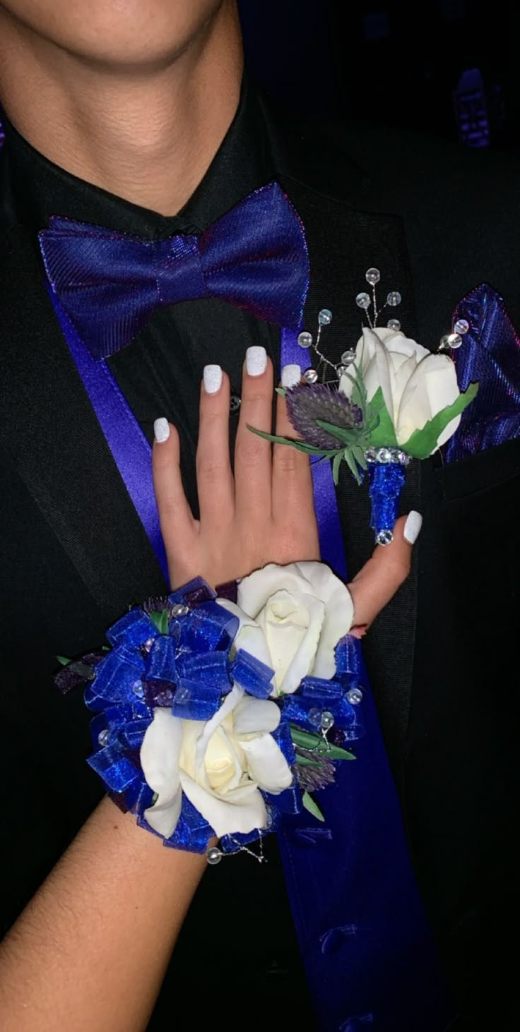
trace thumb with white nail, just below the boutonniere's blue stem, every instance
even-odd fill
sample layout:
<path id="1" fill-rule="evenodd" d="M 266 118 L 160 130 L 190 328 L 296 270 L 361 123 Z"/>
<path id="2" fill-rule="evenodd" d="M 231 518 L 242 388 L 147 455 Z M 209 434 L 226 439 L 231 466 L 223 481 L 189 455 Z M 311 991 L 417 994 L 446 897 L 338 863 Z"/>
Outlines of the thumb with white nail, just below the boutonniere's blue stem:
<path id="1" fill-rule="evenodd" d="M 401 516 L 394 526 L 392 543 L 377 545 L 371 558 L 348 584 L 354 603 L 353 632 L 357 637 L 362 637 L 406 580 L 411 567 L 411 548 L 422 522 L 421 513 L 415 510 Z"/>

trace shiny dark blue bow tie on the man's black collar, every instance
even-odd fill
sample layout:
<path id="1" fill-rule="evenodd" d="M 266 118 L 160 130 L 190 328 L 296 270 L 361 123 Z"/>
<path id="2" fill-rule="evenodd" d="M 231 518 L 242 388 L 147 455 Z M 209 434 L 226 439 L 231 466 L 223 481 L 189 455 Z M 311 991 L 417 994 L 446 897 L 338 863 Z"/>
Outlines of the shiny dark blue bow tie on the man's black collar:
<path id="1" fill-rule="evenodd" d="M 91 355 L 124 348 L 162 304 L 215 297 L 298 329 L 309 264 L 300 218 L 277 183 L 200 235 L 144 240 L 54 216 L 39 233 L 47 275 Z"/>

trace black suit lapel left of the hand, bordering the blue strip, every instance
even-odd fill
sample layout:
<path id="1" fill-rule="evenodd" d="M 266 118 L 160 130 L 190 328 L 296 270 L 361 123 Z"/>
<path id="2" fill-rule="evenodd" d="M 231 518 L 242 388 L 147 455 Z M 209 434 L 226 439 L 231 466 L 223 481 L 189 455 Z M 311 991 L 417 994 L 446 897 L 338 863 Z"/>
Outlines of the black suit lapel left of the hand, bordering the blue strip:
<path id="1" fill-rule="evenodd" d="M 106 622 L 164 583 L 22 227 L 0 253 L 0 440 Z M 21 298 L 24 303 L 21 304 Z M 116 530 L 115 530 L 116 528 Z"/>

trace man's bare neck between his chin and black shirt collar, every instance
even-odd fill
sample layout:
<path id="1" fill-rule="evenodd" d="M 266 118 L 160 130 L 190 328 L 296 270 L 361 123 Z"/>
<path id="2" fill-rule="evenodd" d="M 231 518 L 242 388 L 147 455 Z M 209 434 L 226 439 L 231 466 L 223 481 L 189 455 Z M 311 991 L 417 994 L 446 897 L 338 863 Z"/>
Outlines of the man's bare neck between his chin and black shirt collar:
<path id="1" fill-rule="evenodd" d="M 0 95 L 19 132 L 80 179 L 176 215 L 238 107 L 242 46 L 235 5 L 224 2 L 171 63 L 146 70 L 103 69 L 10 19 L 6 28 Z"/>

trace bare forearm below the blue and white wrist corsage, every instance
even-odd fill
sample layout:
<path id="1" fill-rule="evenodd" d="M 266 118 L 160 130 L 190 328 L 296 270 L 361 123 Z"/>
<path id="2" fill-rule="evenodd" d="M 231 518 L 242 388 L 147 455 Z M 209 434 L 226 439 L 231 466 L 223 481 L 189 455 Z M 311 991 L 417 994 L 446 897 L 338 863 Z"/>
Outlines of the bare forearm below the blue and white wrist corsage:
<path id="1" fill-rule="evenodd" d="M 145 1029 L 205 867 L 104 799 L 0 946 L 3 1032 Z"/>

